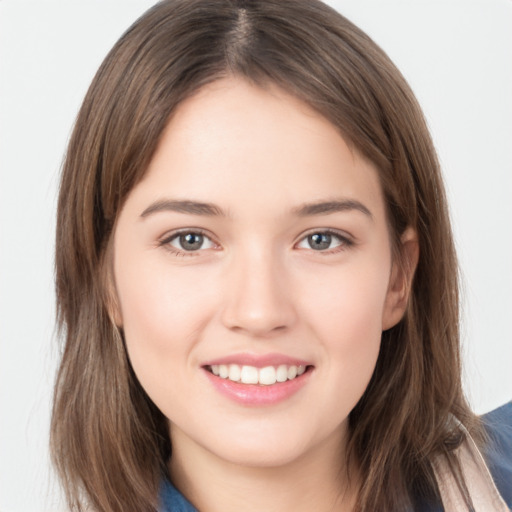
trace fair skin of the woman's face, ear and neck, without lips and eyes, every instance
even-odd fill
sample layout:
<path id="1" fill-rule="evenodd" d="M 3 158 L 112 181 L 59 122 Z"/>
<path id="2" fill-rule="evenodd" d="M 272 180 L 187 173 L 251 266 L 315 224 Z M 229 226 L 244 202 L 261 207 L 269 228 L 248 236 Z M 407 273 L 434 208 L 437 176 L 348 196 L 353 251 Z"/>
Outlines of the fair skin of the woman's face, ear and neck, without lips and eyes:
<path id="1" fill-rule="evenodd" d="M 222 214 L 162 207 L 171 200 Z M 297 213 L 332 201 L 352 203 Z M 203 246 L 187 252 L 176 230 L 204 232 Z M 312 248 L 307 236 L 326 230 L 336 233 L 329 247 Z M 414 263 L 414 233 L 402 242 Z M 114 281 L 113 316 L 169 419 L 173 481 L 196 507 L 352 509 L 347 417 L 382 331 L 403 315 L 410 276 L 392 261 L 376 169 L 332 124 L 275 86 L 226 78 L 201 89 L 174 113 L 118 217 Z M 312 370 L 286 400 L 246 406 L 204 368 L 241 353 Z"/>

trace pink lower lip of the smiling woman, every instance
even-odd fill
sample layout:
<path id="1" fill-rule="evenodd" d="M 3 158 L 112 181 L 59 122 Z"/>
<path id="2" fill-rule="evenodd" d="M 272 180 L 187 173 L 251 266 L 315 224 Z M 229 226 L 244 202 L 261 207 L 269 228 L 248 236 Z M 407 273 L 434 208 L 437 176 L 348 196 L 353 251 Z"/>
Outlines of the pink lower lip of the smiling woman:
<path id="1" fill-rule="evenodd" d="M 274 405 L 287 400 L 309 381 L 312 373 L 309 368 L 299 377 L 295 377 L 295 379 L 287 380 L 286 382 L 276 382 L 270 386 L 262 386 L 259 384 L 233 382 L 229 379 L 217 377 L 208 370 L 204 371 L 219 393 L 235 402 L 250 406 Z"/>

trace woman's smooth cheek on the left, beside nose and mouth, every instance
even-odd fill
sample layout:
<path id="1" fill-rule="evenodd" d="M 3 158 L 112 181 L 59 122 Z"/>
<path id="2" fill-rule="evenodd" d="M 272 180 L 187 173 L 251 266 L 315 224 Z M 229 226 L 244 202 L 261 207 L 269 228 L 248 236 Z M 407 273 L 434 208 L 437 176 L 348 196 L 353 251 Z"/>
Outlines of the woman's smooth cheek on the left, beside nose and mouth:
<path id="1" fill-rule="evenodd" d="M 197 269 L 192 275 L 166 265 L 165 255 L 153 264 L 137 262 L 134 255 L 117 266 L 116 284 L 126 346 L 139 374 L 183 361 L 214 310 L 214 298 L 208 276 Z"/>

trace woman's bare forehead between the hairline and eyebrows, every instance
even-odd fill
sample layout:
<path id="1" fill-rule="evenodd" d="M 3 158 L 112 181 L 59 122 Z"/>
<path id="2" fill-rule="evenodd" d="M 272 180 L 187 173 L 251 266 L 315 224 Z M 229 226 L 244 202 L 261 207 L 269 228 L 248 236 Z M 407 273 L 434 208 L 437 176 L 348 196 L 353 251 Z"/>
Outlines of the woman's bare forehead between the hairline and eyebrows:
<path id="1" fill-rule="evenodd" d="M 375 167 L 333 124 L 277 86 L 236 78 L 179 105 L 132 192 L 146 200 L 215 202 L 249 215 L 338 197 L 384 211 Z"/>

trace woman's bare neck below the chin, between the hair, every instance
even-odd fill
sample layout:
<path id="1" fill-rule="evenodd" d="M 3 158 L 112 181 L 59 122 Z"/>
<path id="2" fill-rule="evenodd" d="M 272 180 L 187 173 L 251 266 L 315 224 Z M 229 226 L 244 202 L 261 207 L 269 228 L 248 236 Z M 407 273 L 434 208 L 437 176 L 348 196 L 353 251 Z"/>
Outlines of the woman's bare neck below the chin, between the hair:
<path id="1" fill-rule="evenodd" d="M 265 467 L 221 459 L 177 429 L 172 439 L 172 480 L 201 512 L 354 509 L 359 479 L 345 463 L 339 438 L 323 441 L 298 460 Z"/>

